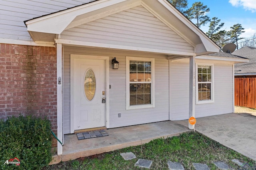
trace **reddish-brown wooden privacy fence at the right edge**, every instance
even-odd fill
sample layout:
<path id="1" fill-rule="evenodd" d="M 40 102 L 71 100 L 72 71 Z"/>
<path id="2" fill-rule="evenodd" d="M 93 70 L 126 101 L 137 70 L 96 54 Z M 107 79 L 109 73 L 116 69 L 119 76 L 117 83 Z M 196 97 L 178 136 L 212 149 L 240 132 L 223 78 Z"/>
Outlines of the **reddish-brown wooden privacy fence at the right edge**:
<path id="1" fill-rule="evenodd" d="M 235 78 L 235 106 L 256 108 L 256 77 Z"/>

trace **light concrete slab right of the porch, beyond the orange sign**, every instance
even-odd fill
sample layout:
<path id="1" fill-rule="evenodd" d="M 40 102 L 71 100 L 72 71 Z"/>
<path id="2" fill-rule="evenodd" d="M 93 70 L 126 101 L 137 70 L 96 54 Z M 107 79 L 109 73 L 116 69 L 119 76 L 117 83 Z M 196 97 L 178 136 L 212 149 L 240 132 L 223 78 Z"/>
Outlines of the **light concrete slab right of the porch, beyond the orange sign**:
<path id="1" fill-rule="evenodd" d="M 175 121 L 188 126 L 188 120 Z M 196 119 L 196 131 L 256 160 L 256 116 L 230 113 Z"/>

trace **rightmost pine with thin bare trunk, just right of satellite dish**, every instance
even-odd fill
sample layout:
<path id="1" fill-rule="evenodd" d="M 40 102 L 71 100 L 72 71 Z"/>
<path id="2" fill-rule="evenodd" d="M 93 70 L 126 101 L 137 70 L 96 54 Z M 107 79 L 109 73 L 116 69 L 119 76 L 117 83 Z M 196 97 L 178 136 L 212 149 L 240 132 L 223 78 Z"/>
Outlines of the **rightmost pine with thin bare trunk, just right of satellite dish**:
<path id="1" fill-rule="evenodd" d="M 231 30 L 227 32 L 227 35 L 230 36 L 231 42 L 236 43 L 236 48 L 238 49 L 238 41 L 244 38 L 238 38 L 243 32 L 244 28 L 242 28 L 241 24 L 235 24 L 234 26 L 230 27 Z"/>

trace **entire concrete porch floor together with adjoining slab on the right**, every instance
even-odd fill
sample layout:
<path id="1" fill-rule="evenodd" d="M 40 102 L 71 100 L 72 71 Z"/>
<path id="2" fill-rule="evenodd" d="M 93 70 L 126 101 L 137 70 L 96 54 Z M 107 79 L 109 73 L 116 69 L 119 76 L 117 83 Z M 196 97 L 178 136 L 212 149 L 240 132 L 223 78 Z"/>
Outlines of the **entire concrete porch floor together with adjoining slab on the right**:
<path id="1" fill-rule="evenodd" d="M 220 142 L 224 146 L 256 160 L 256 116 L 248 113 L 230 113 L 196 119 L 196 131 Z M 109 136 L 78 140 L 76 134 L 64 135 L 63 154 L 54 156 L 52 164 L 137 146 L 156 138 L 178 136 L 191 131 L 188 120 L 163 121 L 111 128 Z"/>

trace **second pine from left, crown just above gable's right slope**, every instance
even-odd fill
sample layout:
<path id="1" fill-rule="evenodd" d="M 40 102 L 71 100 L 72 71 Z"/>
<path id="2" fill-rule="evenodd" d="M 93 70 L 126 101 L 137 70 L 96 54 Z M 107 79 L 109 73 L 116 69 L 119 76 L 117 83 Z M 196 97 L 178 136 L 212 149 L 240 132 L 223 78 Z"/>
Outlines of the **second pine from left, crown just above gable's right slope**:
<path id="1" fill-rule="evenodd" d="M 210 8 L 208 8 L 202 2 L 195 2 L 192 4 L 192 7 L 186 10 L 184 13 L 188 19 L 196 19 L 196 26 L 200 28 L 200 26 L 204 26 L 210 21 L 210 18 L 206 15 L 208 12 L 210 12 Z"/>

